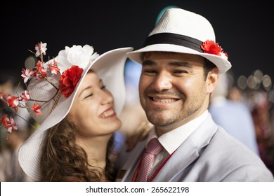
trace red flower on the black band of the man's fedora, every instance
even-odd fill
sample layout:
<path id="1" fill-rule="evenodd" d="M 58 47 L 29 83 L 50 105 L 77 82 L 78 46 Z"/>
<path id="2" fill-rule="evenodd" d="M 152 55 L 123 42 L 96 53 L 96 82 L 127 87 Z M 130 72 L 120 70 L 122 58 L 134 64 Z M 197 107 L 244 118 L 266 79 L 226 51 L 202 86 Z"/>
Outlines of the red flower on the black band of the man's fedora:
<path id="1" fill-rule="evenodd" d="M 212 40 L 204 41 L 201 45 L 202 50 L 204 50 L 204 53 L 209 53 L 211 55 L 218 55 L 221 57 L 224 57 L 228 59 L 228 54 L 223 51 L 223 48 L 221 48 L 218 43 L 215 43 Z"/>

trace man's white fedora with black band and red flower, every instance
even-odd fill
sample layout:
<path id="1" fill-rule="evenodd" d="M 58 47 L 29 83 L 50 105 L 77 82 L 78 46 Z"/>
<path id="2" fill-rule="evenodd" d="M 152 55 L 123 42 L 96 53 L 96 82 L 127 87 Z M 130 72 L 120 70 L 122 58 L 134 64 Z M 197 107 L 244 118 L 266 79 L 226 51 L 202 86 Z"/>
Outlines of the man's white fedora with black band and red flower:
<path id="1" fill-rule="evenodd" d="M 204 47 L 202 47 L 204 45 Z M 143 52 L 180 52 L 209 59 L 224 73 L 231 68 L 226 52 L 215 43 L 214 29 L 202 15 L 181 8 L 167 9 L 148 35 L 143 48 L 128 52 L 129 59 L 142 63 Z"/>

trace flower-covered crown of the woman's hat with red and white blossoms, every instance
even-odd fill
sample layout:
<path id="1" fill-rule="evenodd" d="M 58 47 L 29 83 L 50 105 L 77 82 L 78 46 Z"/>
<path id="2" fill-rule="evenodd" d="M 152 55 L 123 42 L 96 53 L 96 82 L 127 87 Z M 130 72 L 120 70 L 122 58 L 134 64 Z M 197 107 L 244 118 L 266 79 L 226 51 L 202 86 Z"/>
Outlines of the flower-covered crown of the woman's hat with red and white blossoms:
<path id="1" fill-rule="evenodd" d="M 65 98 L 70 97 L 81 79 L 85 66 L 99 55 L 93 52 L 93 48 L 89 45 L 84 45 L 83 48 L 74 45 L 72 48 L 66 47 L 65 50 L 60 51 L 58 58 L 44 62 L 46 43 L 38 43 L 35 45 L 35 50 L 33 53 L 40 58 L 36 66 L 33 69 L 22 69 L 21 76 L 27 85 L 27 90 L 17 96 L 0 92 L 0 99 L 15 111 L 15 115 L 18 108 L 25 108 L 31 113 L 32 118 L 41 124 L 55 108 L 61 94 Z M 67 60 L 77 65 L 70 65 Z M 1 117 L 0 123 L 10 133 L 18 129 L 13 116 L 8 114 Z"/>

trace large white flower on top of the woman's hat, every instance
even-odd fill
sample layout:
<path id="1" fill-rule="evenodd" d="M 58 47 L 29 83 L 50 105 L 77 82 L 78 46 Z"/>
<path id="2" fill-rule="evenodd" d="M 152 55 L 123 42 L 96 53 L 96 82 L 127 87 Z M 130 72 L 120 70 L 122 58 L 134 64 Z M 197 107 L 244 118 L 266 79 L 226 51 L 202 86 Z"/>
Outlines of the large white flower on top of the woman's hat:
<path id="1" fill-rule="evenodd" d="M 61 50 L 56 57 L 56 62 L 60 73 L 63 73 L 66 69 L 70 69 L 72 65 L 77 65 L 82 69 L 85 69 L 94 59 L 99 55 L 94 52 L 93 47 L 90 45 L 73 45 L 71 48 L 66 46 L 65 50 Z"/>

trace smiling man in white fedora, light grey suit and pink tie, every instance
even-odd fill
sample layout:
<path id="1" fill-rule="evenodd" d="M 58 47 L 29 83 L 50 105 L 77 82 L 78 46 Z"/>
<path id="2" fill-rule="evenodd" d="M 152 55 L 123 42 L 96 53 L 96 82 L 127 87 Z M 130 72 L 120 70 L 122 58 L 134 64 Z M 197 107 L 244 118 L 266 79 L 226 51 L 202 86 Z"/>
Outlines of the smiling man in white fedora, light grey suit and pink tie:
<path id="1" fill-rule="evenodd" d="M 219 74 L 231 67 L 207 19 L 170 8 L 128 57 L 142 64 L 140 100 L 155 130 L 123 155 L 117 181 L 274 181 L 260 158 L 207 110 Z M 157 146 L 147 153 L 159 152 L 152 165 L 151 157 L 141 158 L 145 146 Z"/>

